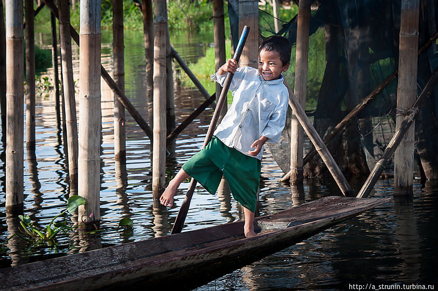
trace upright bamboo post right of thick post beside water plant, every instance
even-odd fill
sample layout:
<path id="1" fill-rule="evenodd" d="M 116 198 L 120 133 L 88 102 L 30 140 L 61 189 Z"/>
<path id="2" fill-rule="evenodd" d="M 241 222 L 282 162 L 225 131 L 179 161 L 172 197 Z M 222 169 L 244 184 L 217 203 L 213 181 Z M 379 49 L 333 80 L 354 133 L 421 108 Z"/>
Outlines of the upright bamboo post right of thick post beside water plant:
<path id="1" fill-rule="evenodd" d="M 114 81 L 125 91 L 125 57 L 123 34 L 123 0 L 113 0 Z M 126 163 L 125 108 L 114 96 L 114 155 L 115 161 Z"/>

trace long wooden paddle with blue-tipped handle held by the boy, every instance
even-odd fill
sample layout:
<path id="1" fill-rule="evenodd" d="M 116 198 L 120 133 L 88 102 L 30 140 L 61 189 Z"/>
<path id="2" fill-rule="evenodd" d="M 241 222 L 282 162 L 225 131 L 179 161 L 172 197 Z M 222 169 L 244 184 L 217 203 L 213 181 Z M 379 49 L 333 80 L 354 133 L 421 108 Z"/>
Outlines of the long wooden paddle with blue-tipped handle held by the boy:
<path id="1" fill-rule="evenodd" d="M 242 31 L 242 35 L 240 36 L 239 42 L 237 44 L 236 52 L 234 53 L 234 59 L 236 62 L 239 62 L 239 58 L 242 55 L 242 50 L 245 45 L 245 41 L 247 40 L 249 32 L 249 27 L 245 25 Z M 229 85 L 231 83 L 231 80 L 233 79 L 234 74 L 228 72 L 227 77 L 225 78 L 224 87 L 222 88 L 221 96 L 219 97 L 219 100 L 217 101 L 216 109 L 214 110 L 213 117 L 211 118 L 209 130 L 207 131 L 207 136 L 204 140 L 203 148 L 207 146 L 207 144 L 210 142 L 211 137 L 213 136 L 213 132 L 216 129 L 216 124 L 219 119 L 219 114 L 222 110 L 222 107 L 224 106 L 224 103 L 227 101 L 227 94 Z M 193 178 L 191 178 L 189 190 L 187 190 L 186 197 L 184 198 L 183 203 L 181 204 L 181 208 L 179 209 L 178 215 L 176 216 L 175 223 L 173 224 L 172 232 L 173 233 L 181 233 L 181 230 L 184 225 L 184 221 L 186 220 L 187 212 L 189 211 L 190 206 L 190 200 L 193 196 L 193 192 L 195 190 L 197 181 Z"/>

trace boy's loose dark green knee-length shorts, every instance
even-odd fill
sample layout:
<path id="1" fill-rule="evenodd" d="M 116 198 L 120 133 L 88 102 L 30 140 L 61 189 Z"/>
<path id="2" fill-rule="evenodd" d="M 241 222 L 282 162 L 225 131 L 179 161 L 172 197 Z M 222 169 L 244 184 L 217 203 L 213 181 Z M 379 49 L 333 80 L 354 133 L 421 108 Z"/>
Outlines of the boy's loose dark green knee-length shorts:
<path id="1" fill-rule="evenodd" d="M 234 199 L 255 212 L 262 169 L 259 159 L 229 148 L 213 136 L 182 168 L 211 194 L 216 193 L 224 175 Z"/>

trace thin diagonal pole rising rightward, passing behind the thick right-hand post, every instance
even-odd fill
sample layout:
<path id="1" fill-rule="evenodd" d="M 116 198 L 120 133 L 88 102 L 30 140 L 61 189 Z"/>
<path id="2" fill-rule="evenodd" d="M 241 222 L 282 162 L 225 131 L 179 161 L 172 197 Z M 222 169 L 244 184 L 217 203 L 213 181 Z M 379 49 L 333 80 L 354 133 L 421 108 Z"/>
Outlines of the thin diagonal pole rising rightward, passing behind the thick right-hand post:
<path id="1" fill-rule="evenodd" d="M 424 51 L 426 51 L 427 48 L 429 48 L 435 40 L 438 38 L 438 32 L 432 35 L 426 43 L 424 43 L 418 51 L 418 55 L 422 54 Z M 338 133 L 340 133 L 343 128 L 348 125 L 352 120 L 354 120 L 354 117 L 357 116 L 365 107 L 373 100 L 375 97 L 377 97 L 383 89 L 385 89 L 397 76 L 399 75 L 398 71 L 395 70 L 392 72 L 388 77 L 386 77 L 370 94 L 368 94 L 367 97 L 365 97 L 356 107 L 347 114 L 334 128 L 331 132 L 327 133 L 323 137 L 324 144 L 328 144 L 328 142 L 336 136 Z M 303 160 L 303 166 L 307 164 L 312 157 L 314 157 L 317 154 L 317 151 L 315 149 L 312 149 L 310 152 L 305 155 Z M 289 180 L 290 178 L 290 171 L 286 173 L 281 179 L 282 182 L 285 182 Z"/>

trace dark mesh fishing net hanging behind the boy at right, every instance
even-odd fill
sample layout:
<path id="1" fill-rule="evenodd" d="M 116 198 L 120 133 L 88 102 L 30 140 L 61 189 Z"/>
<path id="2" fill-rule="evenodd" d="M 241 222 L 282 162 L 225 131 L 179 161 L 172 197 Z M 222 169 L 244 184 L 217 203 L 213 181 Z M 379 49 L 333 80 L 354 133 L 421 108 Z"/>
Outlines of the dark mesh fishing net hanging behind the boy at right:
<path id="1" fill-rule="evenodd" d="M 297 1 L 298 2 L 298 1 Z M 288 3 L 283 3 L 284 5 Z M 291 4 L 290 9 L 295 5 Z M 438 5 L 421 0 L 419 47 L 437 32 Z M 277 34 L 293 47 L 291 66 L 285 77 L 293 89 L 297 16 L 282 19 L 274 30 L 274 17 L 267 6 L 259 5 L 259 33 L 265 38 Z M 317 0 L 311 3 L 309 63 L 306 113 L 320 136 L 330 131 L 363 98 L 398 68 L 400 0 Z M 229 0 L 229 19 L 233 43 L 238 39 L 238 4 Z M 437 68 L 437 42 L 419 56 L 418 94 Z M 397 78 L 386 86 L 355 120 L 328 145 L 344 175 L 366 173 L 381 156 L 395 132 Z M 437 169 L 438 140 L 437 89 L 428 98 L 416 122 L 416 156 L 428 159 Z M 288 133 L 290 135 L 290 133 Z M 286 137 L 287 139 L 287 137 Z M 281 153 L 280 164 L 288 171 L 288 153 L 282 146 L 271 147 Z M 307 152 L 309 149 L 305 149 Z M 426 154 L 427 153 L 427 154 Z M 275 156 L 275 155 L 274 155 Z M 278 158 L 277 161 L 278 161 Z M 286 161 L 285 161 L 286 160 Z M 311 166 L 309 166 L 311 165 Z M 421 164 L 417 169 L 421 172 Z M 308 163 L 305 175 L 328 175 L 318 158 Z"/>

